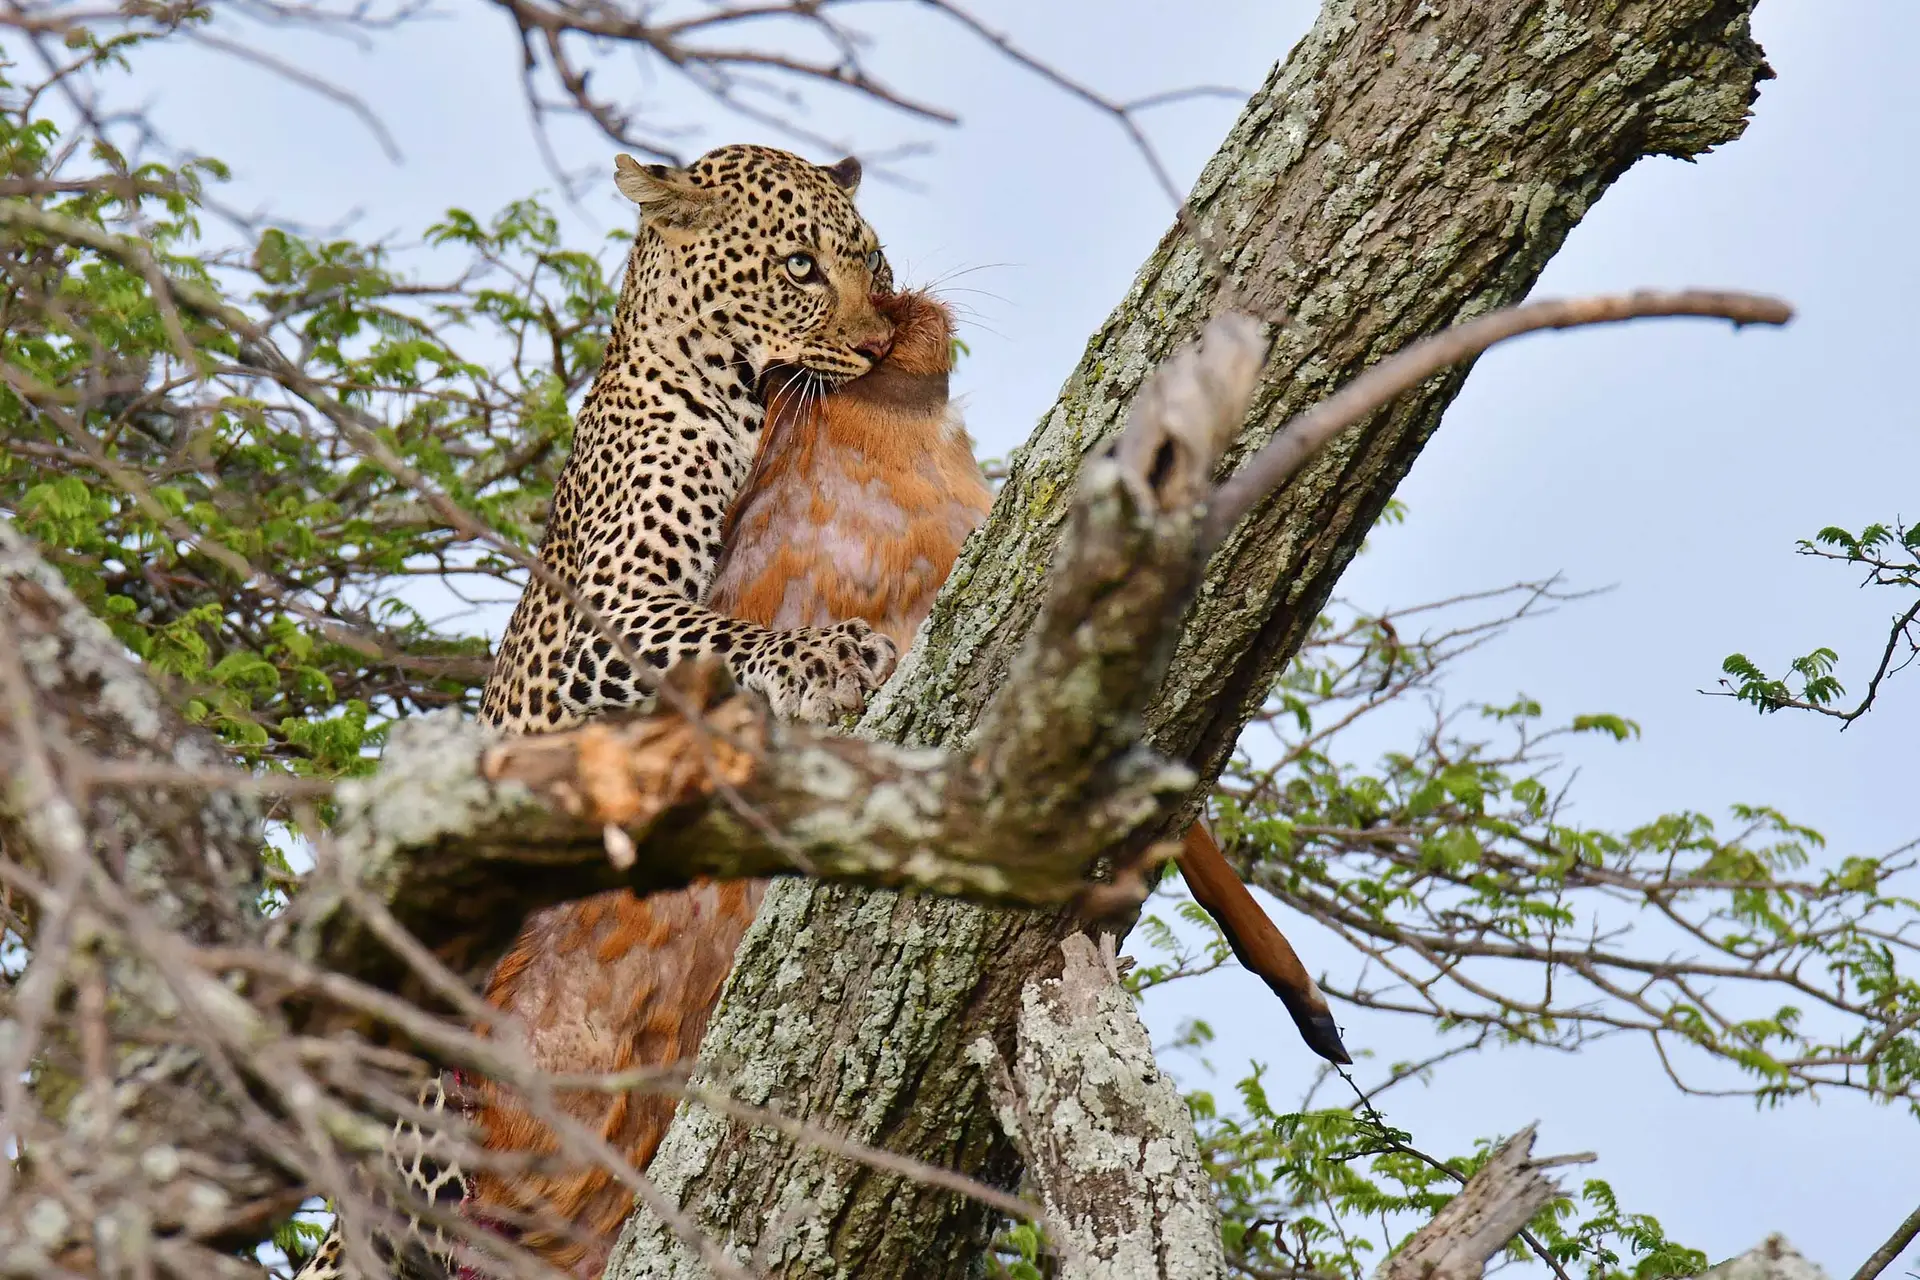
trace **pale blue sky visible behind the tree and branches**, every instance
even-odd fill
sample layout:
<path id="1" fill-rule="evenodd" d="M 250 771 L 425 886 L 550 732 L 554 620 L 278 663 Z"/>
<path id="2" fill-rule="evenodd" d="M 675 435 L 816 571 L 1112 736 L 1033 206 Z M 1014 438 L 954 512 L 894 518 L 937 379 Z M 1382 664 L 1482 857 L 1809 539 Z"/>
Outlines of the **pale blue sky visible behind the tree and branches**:
<path id="1" fill-rule="evenodd" d="M 371 52 L 275 36 L 365 94 L 397 136 L 399 165 L 338 107 L 207 56 L 146 63 L 142 96 L 182 138 L 234 165 L 238 203 L 305 221 L 357 209 L 361 234 L 411 234 L 447 205 L 486 213 L 551 186 L 505 19 L 490 6 L 449 10 L 459 17 Z M 1313 15 L 1306 0 L 1188 0 L 1177 19 L 1173 6 L 1146 0 L 977 10 L 1116 96 L 1194 83 L 1252 88 Z M 902 165 L 922 190 L 870 180 L 862 205 L 904 278 L 966 273 L 948 286 L 973 311 L 964 334 L 973 355 L 958 380 L 983 453 L 998 455 L 1052 401 L 1169 209 L 1110 121 L 914 6 L 874 8 L 860 21 L 876 33 L 885 77 L 950 106 L 964 125 L 945 130 L 831 100 L 816 104 L 812 125 L 864 148 L 935 144 Z M 1665 324 L 1536 338 L 1486 357 L 1402 489 L 1409 522 L 1375 537 L 1342 591 L 1384 606 L 1553 572 L 1572 585 L 1617 585 L 1476 654 L 1453 693 L 1526 691 L 1549 714 L 1636 718 L 1642 743 L 1578 756 L 1586 821 L 1770 802 L 1826 831 L 1839 854 L 1884 852 L 1920 835 L 1908 796 L 1920 677 L 1895 683 L 1843 735 L 1811 718 L 1761 720 L 1695 691 L 1734 649 L 1778 668 L 1822 643 L 1860 683 L 1885 635 L 1889 601 L 1791 549 L 1824 524 L 1920 518 L 1920 432 L 1901 372 L 1920 296 L 1910 226 L 1920 6 L 1761 0 L 1755 25 L 1780 79 L 1763 88 L 1747 136 L 1697 165 L 1634 169 L 1540 292 L 1755 288 L 1789 297 L 1801 319 L 1784 334 Z M 664 86 L 649 100 L 674 104 Z M 1196 102 L 1154 117 L 1181 180 L 1198 173 L 1233 113 L 1231 102 Z M 780 142 L 691 104 L 672 117 L 705 121 L 693 152 Z M 559 144 L 570 167 L 611 171 L 611 148 L 595 134 L 563 129 Z M 628 221 L 611 182 L 570 215 L 582 244 Z M 1315 963 L 1342 963 L 1325 938 L 1300 929 L 1300 940 Z M 1221 1067 L 1269 1061 L 1279 1098 L 1309 1079 L 1311 1061 L 1244 975 L 1187 984 L 1148 1009 L 1162 1038 L 1188 1015 L 1221 1032 L 1212 1052 Z M 1344 1021 L 1350 1044 L 1386 1059 L 1419 1052 L 1419 1027 Z M 1597 1150 L 1597 1173 L 1624 1203 L 1659 1213 L 1674 1236 L 1728 1255 L 1784 1230 L 1839 1276 L 1920 1199 L 1916 1126 L 1905 1113 L 1851 1098 L 1763 1113 L 1680 1098 L 1642 1044 L 1578 1059 L 1486 1055 L 1400 1092 L 1392 1115 L 1434 1150 L 1540 1119 L 1542 1148 Z"/>

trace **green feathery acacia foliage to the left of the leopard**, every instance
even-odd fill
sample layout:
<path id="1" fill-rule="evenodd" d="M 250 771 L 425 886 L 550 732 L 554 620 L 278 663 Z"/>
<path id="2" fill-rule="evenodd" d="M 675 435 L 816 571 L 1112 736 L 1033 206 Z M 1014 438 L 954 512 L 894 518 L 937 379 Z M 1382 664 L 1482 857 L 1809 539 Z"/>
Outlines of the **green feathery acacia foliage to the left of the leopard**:
<path id="1" fill-rule="evenodd" d="M 252 762 L 363 771 L 394 718 L 468 706 L 488 649 L 461 614 L 518 580 L 420 484 L 538 539 L 612 315 L 607 257 L 538 200 L 424 228 L 440 280 L 384 244 L 219 234 L 219 163 L 75 146 L 10 90 L 0 507 Z M 411 476 L 369 457 L 365 422 Z"/>

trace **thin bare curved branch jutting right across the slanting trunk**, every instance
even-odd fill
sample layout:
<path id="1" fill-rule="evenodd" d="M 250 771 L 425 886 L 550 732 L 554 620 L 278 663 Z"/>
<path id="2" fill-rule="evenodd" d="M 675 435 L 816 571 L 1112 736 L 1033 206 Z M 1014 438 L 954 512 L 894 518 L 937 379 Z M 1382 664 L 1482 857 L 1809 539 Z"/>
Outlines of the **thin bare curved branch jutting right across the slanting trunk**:
<path id="1" fill-rule="evenodd" d="M 1200 545 L 1208 551 L 1217 547 L 1256 503 L 1286 484 L 1329 439 L 1384 409 L 1394 397 L 1411 391 L 1448 365 L 1473 359 L 1507 338 L 1542 328 L 1578 328 L 1680 315 L 1711 317 L 1734 324 L 1786 324 L 1793 319 L 1793 307 L 1761 294 L 1638 290 L 1634 294 L 1524 303 L 1446 328 L 1390 355 L 1283 426 L 1213 493 Z"/>

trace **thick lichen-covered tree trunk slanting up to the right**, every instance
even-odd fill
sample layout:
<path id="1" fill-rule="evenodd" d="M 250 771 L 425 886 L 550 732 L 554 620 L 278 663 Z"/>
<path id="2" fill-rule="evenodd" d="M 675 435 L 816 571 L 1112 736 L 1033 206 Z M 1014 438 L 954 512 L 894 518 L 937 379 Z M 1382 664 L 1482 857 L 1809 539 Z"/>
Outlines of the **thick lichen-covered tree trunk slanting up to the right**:
<path id="1" fill-rule="evenodd" d="M 1329 0 L 1202 173 L 1169 232 L 1016 459 L 922 645 L 864 733 L 958 747 L 1039 608 L 1081 459 L 1144 374 L 1225 305 L 1286 315 L 1231 466 L 1388 351 L 1523 297 L 1644 155 L 1738 138 L 1770 73 L 1755 0 Z M 1432 378 L 1261 505 L 1210 564 L 1150 743 L 1212 779 L 1467 370 Z M 1192 806 L 1202 787 L 1194 787 Z M 1167 823 L 1167 831 L 1177 821 Z M 737 1098 L 922 1159 L 1010 1178 L 966 1046 L 1012 1052 L 1021 984 L 1066 919 L 778 885 L 703 1050 Z M 962 1276 L 987 1213 L 684 1107 L 651 1167 L 730 1249 L 776 1274 Z M 768 1224 L 781 1224 L 781 1238 Z M 699 1276 L 636 1215 L 611 1280 Z"/>

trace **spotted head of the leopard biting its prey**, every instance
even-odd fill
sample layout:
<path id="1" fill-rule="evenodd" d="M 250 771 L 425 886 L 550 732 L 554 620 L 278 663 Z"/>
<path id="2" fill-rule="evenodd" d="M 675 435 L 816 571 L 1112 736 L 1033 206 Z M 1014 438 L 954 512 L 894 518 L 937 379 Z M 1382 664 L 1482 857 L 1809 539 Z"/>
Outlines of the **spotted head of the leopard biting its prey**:
<path id="1" fill-rule="evenodd" d="M 854 209 L 860 161 L 814 165 L 766 146 L 722 146 L 685 169 L 614 161 L 639 205 L 628 292 L 645 315 L 718 338 L 755 372 L 799 365 L 831 382 L 887 353 L 893 292 L 879 238 Z"/>

